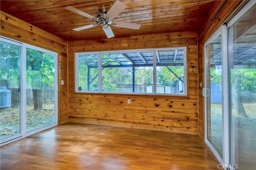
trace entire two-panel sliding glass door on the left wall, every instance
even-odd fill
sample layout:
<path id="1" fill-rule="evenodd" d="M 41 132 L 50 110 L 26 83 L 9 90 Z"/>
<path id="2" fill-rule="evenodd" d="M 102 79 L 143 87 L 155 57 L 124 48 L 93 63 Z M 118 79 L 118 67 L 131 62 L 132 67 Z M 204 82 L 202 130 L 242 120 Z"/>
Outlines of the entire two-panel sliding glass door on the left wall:
<path id="1" fill-rule="evenodd" d="M 57 53 L 0 40 L 0 139 L 6 144 L 57 125 Z"/>

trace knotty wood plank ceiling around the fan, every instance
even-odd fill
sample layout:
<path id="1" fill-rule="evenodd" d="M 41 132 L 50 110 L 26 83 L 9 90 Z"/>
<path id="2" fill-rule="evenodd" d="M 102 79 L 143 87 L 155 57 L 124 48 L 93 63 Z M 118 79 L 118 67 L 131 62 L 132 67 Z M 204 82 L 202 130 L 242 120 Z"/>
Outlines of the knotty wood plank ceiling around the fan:
<path id="1" fill-rule="evenodd" d="M 0 0 L 1 10 L 64 40 L 106 38 L 101 26 L 82 31 L 73 28 L 96 23 L 64 9 L 72 6 L 92 16 L 110 9 L 116 0 Z M 213 0 L 120 0 L 126 8 L 113 21 L 141 24 L 139 30 L 111 26 L 115 37 L 197 30 Z"/>

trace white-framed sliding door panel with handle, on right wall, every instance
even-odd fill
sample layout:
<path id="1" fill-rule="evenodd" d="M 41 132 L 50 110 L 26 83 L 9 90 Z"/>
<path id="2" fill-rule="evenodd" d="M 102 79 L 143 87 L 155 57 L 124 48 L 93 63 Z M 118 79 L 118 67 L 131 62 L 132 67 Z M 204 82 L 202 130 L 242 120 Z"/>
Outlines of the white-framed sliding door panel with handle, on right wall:
<path id="1" fill-rule="evenodd" d="M 227 51 L 226 26 L 222 26 L 205 43 L 205 113 L 206 113 L 206 143 L 220 160 L 224 154 L 224 130 L 223 122 L 227 121 L 227 99 L 224 96 L 227 85 L 224 83 L 224 76 L 227 75 Z M 224 90 L 225 89 L 225 90 Z"/>

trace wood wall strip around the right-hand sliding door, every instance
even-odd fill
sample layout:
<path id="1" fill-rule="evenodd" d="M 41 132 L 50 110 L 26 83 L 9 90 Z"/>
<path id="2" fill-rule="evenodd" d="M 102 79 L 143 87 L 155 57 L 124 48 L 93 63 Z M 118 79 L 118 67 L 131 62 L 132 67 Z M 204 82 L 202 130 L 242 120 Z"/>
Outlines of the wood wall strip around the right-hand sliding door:
<path id="1" fill-rule="evenodd" d="M 210 36 L 218 30 L 222 24 L 226 22 L 228 17 L 233 14 L 234 11 L 242 4 L 242 0 L 234 0 L 230 1 L 228 0 L 222 10 L 220 10 L 219 14 L 216 16 L 216 18 L 220 18 L 220 20 L 215 19 L 214 22 L 208 27 L 208 29 L 204 32 L 206 29 L 206 26 L 209 24 L 210 20 L 214 17 L 216 12 L 220 9 L 222 4 L 224 3 L 224 0 L 221 1 L 214 1 L 214 4 L 212 5 L 211 10 L 208 12 L 208 16 L 205 18 L 202 27 L 200 30 L 198 30 L 198 36 L 202 37 L 200 38 L 200 41 L 198 41 L 198 81 L 202 81 L 202 87 L 204 87 L 204 43 L 210 38 Z M 198 89 L 198 134 L 202 140 L 205 138 L 205 121 L 204 121 L 204 97 L 202 95 L 202 88 L 199 87 Z"/>

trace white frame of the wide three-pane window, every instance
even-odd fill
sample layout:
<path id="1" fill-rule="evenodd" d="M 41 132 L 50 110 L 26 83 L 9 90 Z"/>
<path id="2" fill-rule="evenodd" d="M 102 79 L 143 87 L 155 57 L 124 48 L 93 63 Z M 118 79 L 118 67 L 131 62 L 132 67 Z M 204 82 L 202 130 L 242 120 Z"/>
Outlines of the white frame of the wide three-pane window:
<path id="1" fill-rule="evenodd" d="M 184 51 L 184 94 L 170 94 L 170 93 L 156 93 L 157 85 L 156 85 L 156 51 L 170 51 L 170 50 L 183 50 Z M 152 62 L 152 68 L 153 68 L 153 90 L 152 93 L 136 93 L 136 92 L 106 92 L 102 91 L 102 60 L 101 55 L 102 54 L 108 54 L 108 53 L 143 53 L 143 52 L 152 52 L 153 54 L 153 62 Z M 79 55 L 86 55 L 86 54 L 97 54 L 98 55 L 98 91 L 79 91 L 78 90 L 78 56 Z M 181 46 L 181 47 L 164 47 L 164 48 L 152 48 L 152 49 L 131 49 L 131 50 L 114 50 L 114 51 L 91 51 L 91 52 L 75 52 L 75 92 L 76 93 L 107 93 L 107 94 L 138 94 L 138 95 L 170 95 L 170 96 L 187 96 L 188 94 L 188 86 L 187 86 L 187 79 L 188 79 L 188 72 L 187 72 L 187 47 Z"/>

